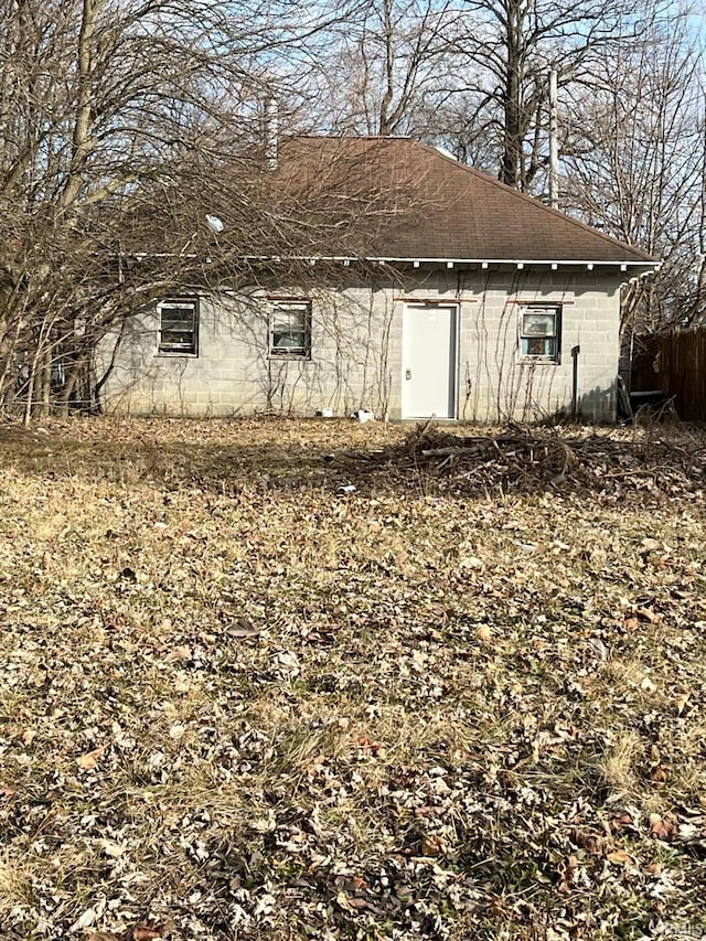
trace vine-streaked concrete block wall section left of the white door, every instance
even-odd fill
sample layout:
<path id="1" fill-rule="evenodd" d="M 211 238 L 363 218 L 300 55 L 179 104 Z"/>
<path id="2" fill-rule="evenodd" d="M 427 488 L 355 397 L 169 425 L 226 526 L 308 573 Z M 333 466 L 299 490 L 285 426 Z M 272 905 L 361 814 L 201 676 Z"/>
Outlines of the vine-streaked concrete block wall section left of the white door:
<path id="1" fill-rule="evenodd" d="M 310 291 L 311 359 L 268 356 L 266 298 L 301 299 L 297 289 L 202 299 L 199 353 L 159 352 L 159 314 L 135 316 L 104 387 L 108 410 L 131 414 L 237 415 L 264 411 L 311 415 L 322 408 L 346 415 L 387 409 L 386 347 L 392 296 L 360 284 L 340 291 Z M 99 351 L 98 372 L 110 359 L 115 338 Z"/>

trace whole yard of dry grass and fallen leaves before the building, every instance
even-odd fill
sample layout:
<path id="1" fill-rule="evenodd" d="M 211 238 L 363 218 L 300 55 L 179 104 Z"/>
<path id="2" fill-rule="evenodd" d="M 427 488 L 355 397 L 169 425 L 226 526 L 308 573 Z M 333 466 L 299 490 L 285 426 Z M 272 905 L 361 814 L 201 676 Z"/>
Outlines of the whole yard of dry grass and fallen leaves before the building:
<path id="1" fill-rule="evenodd" d="M 706 933 L 705 455 L 6 424 L 0 937 Z"/>

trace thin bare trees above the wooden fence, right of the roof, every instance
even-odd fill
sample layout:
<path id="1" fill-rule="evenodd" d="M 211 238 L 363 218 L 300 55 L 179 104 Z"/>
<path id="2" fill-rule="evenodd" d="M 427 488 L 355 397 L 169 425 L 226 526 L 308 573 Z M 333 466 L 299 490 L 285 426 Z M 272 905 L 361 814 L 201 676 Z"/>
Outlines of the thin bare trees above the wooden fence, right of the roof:
<path id="1" fill-rule="evenodd" d="M 565 100 L 565 206 L 662 261 L 625 292 L 623 321 L 639 329 L 704 310 L 700 57 L 685 19 L 654 18 L 596 60 L 590 93 Z"/>

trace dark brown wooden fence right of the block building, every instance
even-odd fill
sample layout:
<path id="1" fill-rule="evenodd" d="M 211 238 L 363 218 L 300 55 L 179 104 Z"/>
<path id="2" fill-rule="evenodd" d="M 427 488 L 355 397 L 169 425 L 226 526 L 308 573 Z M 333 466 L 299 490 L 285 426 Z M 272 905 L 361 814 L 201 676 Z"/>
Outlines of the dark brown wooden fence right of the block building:
<path id="1" fill-rule="evenodd" d="M 631 392 L 657 388 L 680 418 L 706 419 L 706 328 L 635 338 Z"/>

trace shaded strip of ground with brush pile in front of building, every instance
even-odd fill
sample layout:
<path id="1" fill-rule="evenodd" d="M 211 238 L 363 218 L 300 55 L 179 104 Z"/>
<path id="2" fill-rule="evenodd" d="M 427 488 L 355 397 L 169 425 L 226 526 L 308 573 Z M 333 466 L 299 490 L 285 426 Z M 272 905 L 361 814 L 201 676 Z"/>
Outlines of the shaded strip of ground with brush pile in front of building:
<path id="1" fill-rule="evenodd" d="M 296 419 L 84 420 L 0 431 L 6 467 L 50 479 L 114 481 L 221 495 L 322 489 L 341 496 L 513 493 L 622 500 L 700 495 L 706 429 L 510 425 L 356 426 Z"/>

